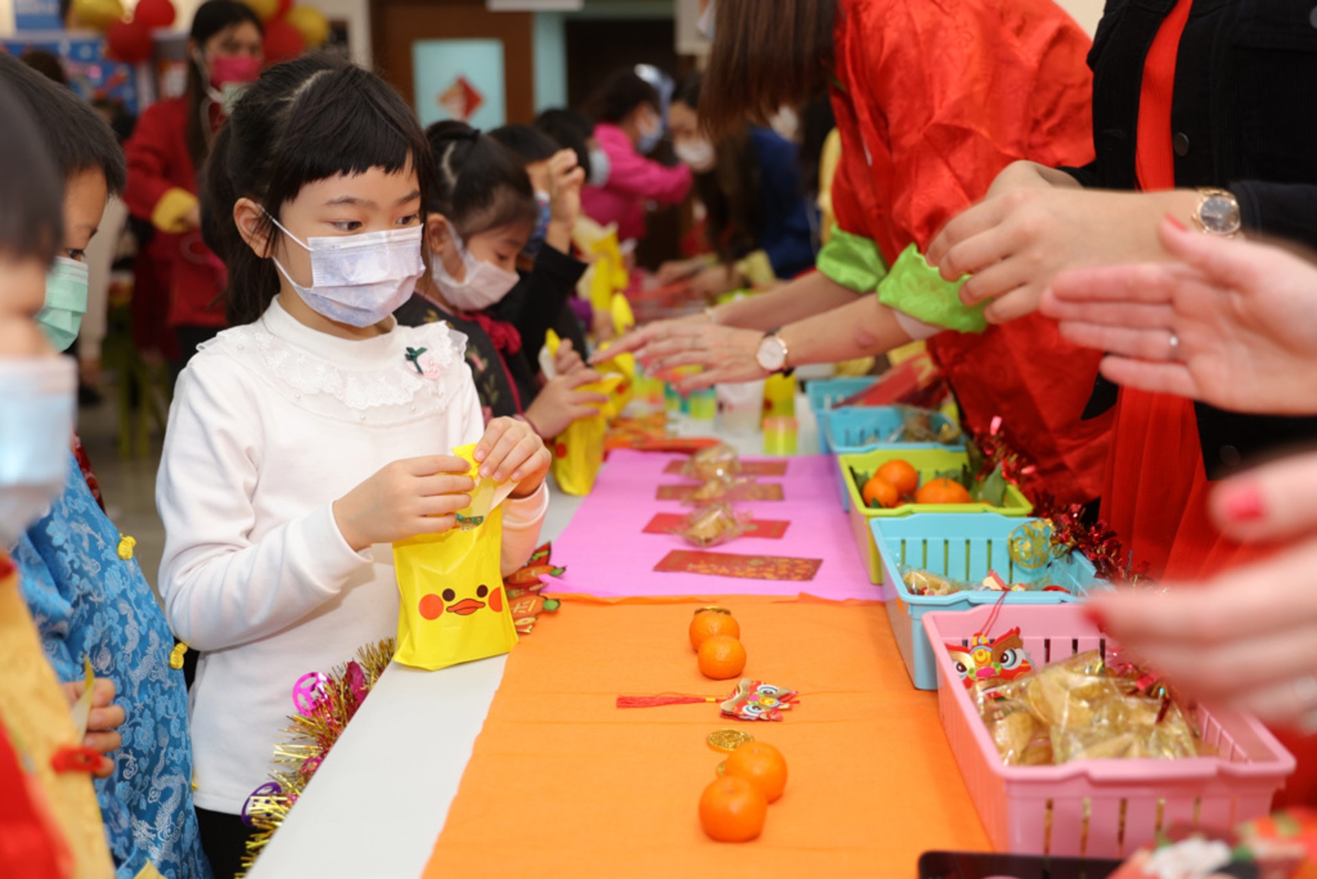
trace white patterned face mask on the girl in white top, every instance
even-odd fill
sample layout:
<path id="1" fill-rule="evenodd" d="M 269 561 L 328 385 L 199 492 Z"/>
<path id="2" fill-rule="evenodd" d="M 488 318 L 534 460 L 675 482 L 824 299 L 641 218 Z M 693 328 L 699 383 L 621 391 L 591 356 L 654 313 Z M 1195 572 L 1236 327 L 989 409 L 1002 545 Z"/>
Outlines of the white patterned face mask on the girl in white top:
<path id="1" fill-rule="evenodd" d="M 419 225 L 303 242 L 273 216 L 270 221 L 311 253 L 311 286 L 299 286 L 278 260 L 275 268 L 303 302 L 329 320 L 373 327 L 407 302 L 425 274 Z"/>

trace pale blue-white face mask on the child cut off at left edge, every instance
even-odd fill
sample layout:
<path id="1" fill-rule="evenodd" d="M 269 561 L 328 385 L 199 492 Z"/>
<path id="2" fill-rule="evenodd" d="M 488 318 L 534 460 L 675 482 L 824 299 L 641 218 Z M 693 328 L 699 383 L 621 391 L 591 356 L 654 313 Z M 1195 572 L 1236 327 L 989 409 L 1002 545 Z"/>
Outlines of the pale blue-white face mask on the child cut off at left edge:
<path id="1" fill-rule="evenodd" d="M 71 357 L 0 358 L 0 550 L 65 490 L 76 393 Z"/>

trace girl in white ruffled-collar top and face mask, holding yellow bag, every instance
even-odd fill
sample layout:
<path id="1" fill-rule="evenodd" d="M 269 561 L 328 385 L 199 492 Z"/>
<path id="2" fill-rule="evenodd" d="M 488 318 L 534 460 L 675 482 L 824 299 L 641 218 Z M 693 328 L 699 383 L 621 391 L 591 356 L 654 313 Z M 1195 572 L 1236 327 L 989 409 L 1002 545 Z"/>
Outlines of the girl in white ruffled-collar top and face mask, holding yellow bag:
<path id="1" fill-rule="evenodd" d="M 428 146 L 411 111 L 358 67 L 270 69 L 215 141 L 207 244 L 229 270 L 229 320 L 179 378 L 157 502 L 161 592 L 200 651 L 196 804 L 216 876 L 242 857 L 238 814 L 266 779 L 292 688 L 398 625 L 389 544 L 453 527 L 481 473 L 518 484 L 503 564 L 533 550 L 549 455 L 528 424 L 486 430 L 465 339 L 399 327 L 420 254 Z"/>

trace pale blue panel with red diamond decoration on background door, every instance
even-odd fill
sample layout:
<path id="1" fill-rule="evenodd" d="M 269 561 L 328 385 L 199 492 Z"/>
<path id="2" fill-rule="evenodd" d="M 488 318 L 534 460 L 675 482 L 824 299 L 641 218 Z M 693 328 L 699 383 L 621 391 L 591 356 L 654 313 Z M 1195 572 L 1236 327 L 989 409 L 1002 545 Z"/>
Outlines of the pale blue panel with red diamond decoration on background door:
<path id="1" fill-rule="evenodd" d="M 417 40 L 412 82 L 423 127 L 457 119 L 489 130 L 507 121 L 502 40 Z"/>

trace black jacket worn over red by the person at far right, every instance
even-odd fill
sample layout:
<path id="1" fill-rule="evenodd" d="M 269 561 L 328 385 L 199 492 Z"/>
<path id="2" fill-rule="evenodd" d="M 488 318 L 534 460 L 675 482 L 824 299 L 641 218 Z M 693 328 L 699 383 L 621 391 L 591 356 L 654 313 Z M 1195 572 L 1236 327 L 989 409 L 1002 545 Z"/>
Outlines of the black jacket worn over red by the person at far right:
<path id="1" fill-rule="evenodd" d="M 1143 62 L 1175 0 L 1108 0 L 1093 37 L 1093 146 L 1065 169 L 1084 186 L 1137 188 Z M 1229 188 L 1246 232 L 1317 248 L 1317 9 L 1313 0 L 1193 0 L 1171 101 L 1177 187 Z M 1110 409 L 1098 378 L 1085 418 Z M 1317 419 L 1251 416 L 1195 403 L 1208 474 L 1317 439 Z"/>

